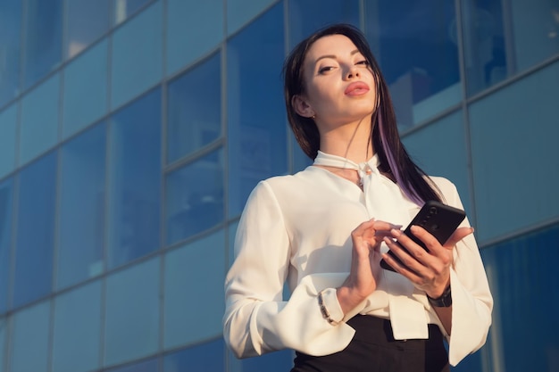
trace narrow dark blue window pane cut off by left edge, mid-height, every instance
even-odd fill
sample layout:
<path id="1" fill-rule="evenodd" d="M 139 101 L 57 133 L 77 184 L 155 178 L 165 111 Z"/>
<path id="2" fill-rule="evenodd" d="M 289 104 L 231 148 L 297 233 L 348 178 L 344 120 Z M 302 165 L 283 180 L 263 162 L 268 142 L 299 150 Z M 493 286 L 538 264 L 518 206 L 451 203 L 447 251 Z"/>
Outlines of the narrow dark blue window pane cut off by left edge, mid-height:
<path id="1" fill-rule="evenodd" d="M 12 268 L 13 180 L 0 183 L 0 314 L 8 308 L 8 288 Z M 0 353 L 2 349 L 0 349 Z"/>

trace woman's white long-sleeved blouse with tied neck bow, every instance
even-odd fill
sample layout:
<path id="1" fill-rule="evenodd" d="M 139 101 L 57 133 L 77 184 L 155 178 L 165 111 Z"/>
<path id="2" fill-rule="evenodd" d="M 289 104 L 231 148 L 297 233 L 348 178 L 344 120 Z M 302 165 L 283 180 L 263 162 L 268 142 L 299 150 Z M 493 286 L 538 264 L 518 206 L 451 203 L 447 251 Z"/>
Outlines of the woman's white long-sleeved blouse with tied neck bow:
<path id="1" fill-rule="evenodd" d="M 388 270 L 381 270 L 376 291 L 344 315 L 336 288 L 351 267 L 351 232 L 371 218 L 405 227 L 420 207 L 401 191 L 397 200 L 394 195 L 389 199 L 397 207 L 382 209 L 369 202 L 372 193 L 390 193 L 395 187 L 399 190 L 380 175 L 376 156 L 355 164 L 319 152 L 315 164 L 341 160 L 362 170 L 374 169 L 373 176 L 384 186 L 365 183 L 362 191 L 346 178 L 310 166 L 293 176 L 269 178 L 254 187 L 239 221 L 236 258 L 225 280 L 226 343 L 238 358 L 286 348 L 328 355 L 350 343 L 355 331 L 345 321 L 360 313 L 389 318 L 396 339 L 427 338 L 427 324 L 437 324 L 449 343 L 449 362 L 455 366 L 480 349 L 491 324 L 493 299 L 474 237 L 466 236 L 454 251 L 450 273 L 452 335 L 446 335 L 425 293 Z M 450 181 L 430 179 L 445 203 L 463 209 Z M 469 226 L 467 219 L 462 226 Z M 381 250 L 385 252 L 388 247 L 382 244 Z M 289 298 L 283 297 L 286 281 Z M 336 326 L 322 317 L 317 299 L 322 290 L 330 317 L 343 318 Z"/>

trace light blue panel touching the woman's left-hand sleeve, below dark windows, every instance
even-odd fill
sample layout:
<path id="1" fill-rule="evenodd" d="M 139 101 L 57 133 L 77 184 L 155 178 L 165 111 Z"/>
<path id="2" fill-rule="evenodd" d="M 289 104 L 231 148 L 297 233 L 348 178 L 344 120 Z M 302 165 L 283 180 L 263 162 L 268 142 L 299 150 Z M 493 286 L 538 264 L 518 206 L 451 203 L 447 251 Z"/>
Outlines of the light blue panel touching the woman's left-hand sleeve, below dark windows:
<path id="1" fill-rule="evenodd" d="M 221 318 L 225 310 L 223 268 L 225 268 L 223 230 L 186 244 L 166 255 L 165 349 L 221 335 L 223 331 Z M 185 296 L 185 293 L 188 293 L 188 296 Z M 193 306 L 194 298 L 196 302 L 204 303 L 204 306 Z"/>

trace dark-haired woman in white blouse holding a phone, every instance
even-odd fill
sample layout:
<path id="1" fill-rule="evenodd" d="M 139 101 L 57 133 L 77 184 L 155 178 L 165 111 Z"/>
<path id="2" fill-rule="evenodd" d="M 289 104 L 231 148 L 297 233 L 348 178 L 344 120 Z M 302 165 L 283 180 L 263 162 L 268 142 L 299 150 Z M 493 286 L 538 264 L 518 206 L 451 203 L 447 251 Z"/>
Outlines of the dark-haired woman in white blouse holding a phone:
<path id="1" fill-rule="evenodd" d="M 485 343 L 491 323 L 473 230 L 466 219 L 441 245 L 414 227 L 425 252 L 400 227 L 428 200 L 462 208 L 455 186 L 405 152 L 359 30 L 316 32 L 284 76 L 289 123 L 314 163 L 248 198 L 225 283 L 229 348 L 239 358 L 293 349 L 296 372 L 449 370 Z"/>

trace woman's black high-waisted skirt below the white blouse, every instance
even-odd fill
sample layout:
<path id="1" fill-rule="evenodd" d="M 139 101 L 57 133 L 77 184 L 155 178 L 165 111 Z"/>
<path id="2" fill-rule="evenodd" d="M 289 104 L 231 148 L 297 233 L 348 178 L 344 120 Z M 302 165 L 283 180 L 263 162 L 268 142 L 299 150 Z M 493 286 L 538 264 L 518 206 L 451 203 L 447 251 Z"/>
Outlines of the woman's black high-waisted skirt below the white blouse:
<path id="1" fill-rule="evenodd" d="M 395 340 L 387 319 L 357 315 L 347 324 L 355 335 L 346 349 L 321 357 L 296 351 L 291 372 L 450 371 L 444 338 L 436 325 L 429 325 L 427 340 Z"/>

